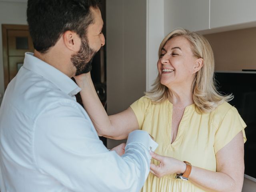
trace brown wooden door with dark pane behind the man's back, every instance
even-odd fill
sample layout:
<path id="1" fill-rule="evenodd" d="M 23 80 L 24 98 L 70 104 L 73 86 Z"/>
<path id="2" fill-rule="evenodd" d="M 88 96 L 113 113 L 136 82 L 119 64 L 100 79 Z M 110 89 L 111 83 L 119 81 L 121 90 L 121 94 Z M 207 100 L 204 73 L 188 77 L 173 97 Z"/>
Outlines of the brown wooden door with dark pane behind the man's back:
<path id="1" fill-rule="evenodd" d="M 25 52 L 34 52 L 27 25 L 2 24 L 4 88 L 23 65 Z"/>

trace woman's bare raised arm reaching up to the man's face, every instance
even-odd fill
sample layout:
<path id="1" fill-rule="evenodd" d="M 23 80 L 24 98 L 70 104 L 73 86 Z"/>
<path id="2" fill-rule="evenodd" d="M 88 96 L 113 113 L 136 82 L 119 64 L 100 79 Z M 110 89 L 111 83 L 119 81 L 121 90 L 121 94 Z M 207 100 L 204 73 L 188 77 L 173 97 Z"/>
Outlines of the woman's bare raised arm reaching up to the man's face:
<path id="1" fill-rule="evenodd" d="M 90 116 L 98 134 L 113 139 L 124 139 L 133 130 L 139 128 L 133 110 L 128 109 L 108 116 L 95 91 L 90 72 L 75 77 L 84 108 Z"/>

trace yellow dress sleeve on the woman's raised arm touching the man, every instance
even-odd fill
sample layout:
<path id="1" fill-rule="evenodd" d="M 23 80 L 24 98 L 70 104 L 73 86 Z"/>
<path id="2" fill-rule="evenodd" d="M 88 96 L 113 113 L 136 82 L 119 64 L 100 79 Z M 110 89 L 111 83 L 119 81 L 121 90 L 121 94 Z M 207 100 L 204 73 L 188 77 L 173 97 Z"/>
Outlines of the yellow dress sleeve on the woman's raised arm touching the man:
<path id="1" fill-rule="evenodd" d="M 138 120 L 140 129 L 142 129 L 145 114 L 148 110 L 149 104 L 150 104 L 150 99 L 148 99 L 144 96 L 130 105 L 130 107 L 132 108 L 132 110 L 135 113 L 135 116 Z"/>

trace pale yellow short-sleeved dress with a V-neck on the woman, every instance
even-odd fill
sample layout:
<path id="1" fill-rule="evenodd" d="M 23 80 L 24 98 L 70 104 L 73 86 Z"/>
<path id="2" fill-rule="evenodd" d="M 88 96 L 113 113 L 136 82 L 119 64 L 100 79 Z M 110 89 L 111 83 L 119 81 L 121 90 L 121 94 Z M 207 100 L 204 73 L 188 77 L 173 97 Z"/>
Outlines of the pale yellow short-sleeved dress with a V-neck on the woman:
<path id="1" fill-rule="evenodd" d="M 210 113 L 200 114 L 195 104 L 187 106 L 171 144 L 172 103 L 168 100 L 152 104 L 145 96 L 131 105 L 140 129 L 151 134 L 159 144 L 156 153 L 188 161 L 211 171 L 216 171 L 216 152 L 230 142 L 242 130 L 244 142 L 246 124 L 236 108 L 224 102 Z M 152 159 L 154 164 L 158 164 Z M 175 178 L 176 174 L 157 178 L 149 174 L 142 192 L 204 192 L 192 184 Z"/>

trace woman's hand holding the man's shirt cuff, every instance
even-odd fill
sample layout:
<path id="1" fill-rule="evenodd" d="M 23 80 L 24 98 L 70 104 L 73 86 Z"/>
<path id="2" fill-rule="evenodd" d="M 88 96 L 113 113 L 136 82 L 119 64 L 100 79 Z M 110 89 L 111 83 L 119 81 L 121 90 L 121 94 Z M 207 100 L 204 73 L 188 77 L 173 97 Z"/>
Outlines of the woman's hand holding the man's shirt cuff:
<path id="1" fill-rule="evenodd" d="M 150 152 L 150 154 L 152 158 L 160 162 L 159 165 L 150 164 L 150 172 L 158 178 L 174 173 L 184 173 L 186 170 L 186 164 L 180 160 L 161 156 L 155 152 Z"/>

